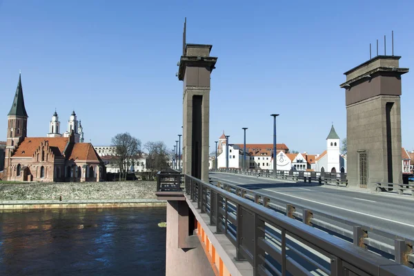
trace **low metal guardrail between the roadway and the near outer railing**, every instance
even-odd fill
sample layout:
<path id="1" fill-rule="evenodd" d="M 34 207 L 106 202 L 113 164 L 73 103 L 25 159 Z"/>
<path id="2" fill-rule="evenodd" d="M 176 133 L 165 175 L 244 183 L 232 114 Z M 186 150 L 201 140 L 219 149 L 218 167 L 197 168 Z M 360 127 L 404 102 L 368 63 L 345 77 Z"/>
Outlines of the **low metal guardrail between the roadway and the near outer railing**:
<path id="1" fill-rule="evenodd" d="M 255 192 L 248 188 L 242 188 L 234 184 L 228 184 L 226 181 L 213 181 L 214 177 L 210 177 L 211 184 L 222 188 L 239 197 L 244 197 L 250 201 L 260 204 L 276 212 L 286 215 L 287 217 L 302 221 L 304 224 L 313 226 L 335 235 L 339 238 L 353 242 L 355 246 L 375 250 L 376 253 L 391 257 L 393 255 L 395 262 L 413 267 L 414 239 L 398 235 L 391 231 L 384 231 L 372 228 L 372 226 L 364 223 L 364 221 L 353 221 L 337 215 L 332 215 L 322 210 L 311 210 L 306 206 L 293 204 L 282 199 L 269 197 L 264 193 Z M 254 184 L 252 185 L 254 186 Z"/>

